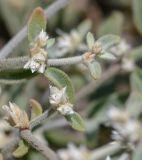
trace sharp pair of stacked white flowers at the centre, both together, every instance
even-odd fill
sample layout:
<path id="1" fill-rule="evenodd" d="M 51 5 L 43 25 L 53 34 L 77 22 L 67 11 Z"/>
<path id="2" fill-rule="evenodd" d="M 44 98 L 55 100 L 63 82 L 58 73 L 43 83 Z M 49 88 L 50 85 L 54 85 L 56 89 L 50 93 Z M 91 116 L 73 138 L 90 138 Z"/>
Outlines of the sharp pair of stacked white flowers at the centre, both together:
<path id="1" fill-rule="evenodd" d="M 73 104 L 68 101 L 66 94 L 66 87 L 58 89 L 57 87 L 50 86 L 49 101 L 52 106 L 62 115 L 70 115 L 74 113 Z"/>

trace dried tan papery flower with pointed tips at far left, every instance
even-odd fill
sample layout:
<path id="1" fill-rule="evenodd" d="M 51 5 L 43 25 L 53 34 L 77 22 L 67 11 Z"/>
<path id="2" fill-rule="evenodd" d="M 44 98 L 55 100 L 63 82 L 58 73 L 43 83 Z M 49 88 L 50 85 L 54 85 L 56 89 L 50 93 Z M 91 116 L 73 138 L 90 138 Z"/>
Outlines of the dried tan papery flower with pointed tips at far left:
<path id="1" fill-rule="evenodd" d="M 9 102 L 9 106 L 4 105 L 3 110 L 6 112 L 6 120 L 11 126 L 16 128 L 29 128 L 29 118 L 25 111 L 22 111 L 15 103 Z"/>

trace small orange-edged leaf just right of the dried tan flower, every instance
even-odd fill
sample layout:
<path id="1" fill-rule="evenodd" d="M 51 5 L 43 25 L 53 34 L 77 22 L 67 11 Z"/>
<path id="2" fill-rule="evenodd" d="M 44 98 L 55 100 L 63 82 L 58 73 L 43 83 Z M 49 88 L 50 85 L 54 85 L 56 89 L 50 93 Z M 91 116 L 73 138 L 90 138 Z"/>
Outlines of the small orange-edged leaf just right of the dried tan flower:
<path id="1" fill-rule="evenodd" d="M 31 120 L 41 115 L 43 112 L 42 106 L 35 99 L 30 99 L 30 107 L 31 107 Z"/>

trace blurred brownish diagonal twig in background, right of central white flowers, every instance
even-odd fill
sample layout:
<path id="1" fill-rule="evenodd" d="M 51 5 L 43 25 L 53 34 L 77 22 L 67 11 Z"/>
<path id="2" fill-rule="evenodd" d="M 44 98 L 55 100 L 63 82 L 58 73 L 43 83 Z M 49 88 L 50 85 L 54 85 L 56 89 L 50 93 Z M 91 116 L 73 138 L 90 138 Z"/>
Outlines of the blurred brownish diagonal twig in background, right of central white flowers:
<path id="1" fill-rule="evenodd" d="M 105 81 L 113 77 L 114 75 L 118 74 L 118 71 L 121 69 L 121 66 L 119 64 L 110 66 L 108 70 L 106 70 L 103 74 L 102 77 L 98 80 L 95 81 L 93 80 L 90 82 L 88 85 L 83 87 L 79 92 L 76 94 L 76 99 L 82 99 L 84 97 L 87 97 L 90 93 L 95 91 L 100 85 L 102 85 Z"/>

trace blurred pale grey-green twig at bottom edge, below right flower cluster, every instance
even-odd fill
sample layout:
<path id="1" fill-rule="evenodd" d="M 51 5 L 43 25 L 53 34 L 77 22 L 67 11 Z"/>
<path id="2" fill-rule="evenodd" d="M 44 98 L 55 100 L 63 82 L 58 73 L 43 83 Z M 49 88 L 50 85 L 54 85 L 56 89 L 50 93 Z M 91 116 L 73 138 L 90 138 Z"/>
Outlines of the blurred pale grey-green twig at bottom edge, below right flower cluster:
<path id="1" fill-rule="evenodd" d="M 113 142 L 93 151 L 91 159 L 100 160 L 120 151 L 124 146 L 121 143 Z"/>

